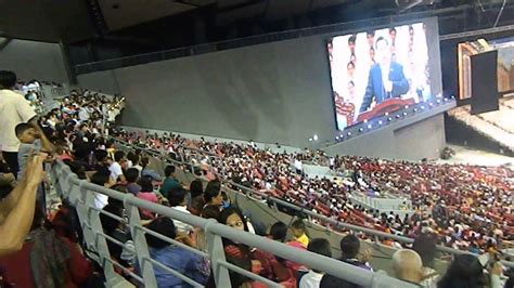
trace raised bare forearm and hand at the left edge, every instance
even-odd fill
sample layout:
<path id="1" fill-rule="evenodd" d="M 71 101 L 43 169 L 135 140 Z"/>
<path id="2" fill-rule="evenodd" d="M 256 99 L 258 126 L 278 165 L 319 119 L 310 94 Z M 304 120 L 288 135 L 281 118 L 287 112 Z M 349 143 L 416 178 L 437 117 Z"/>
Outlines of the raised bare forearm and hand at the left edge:
<path id="1" fill-rule="evenodd" d="M 44 174 L 46 157 L 38 154 L 29 158 L 24 180 L 0 200 L 0 256 L 20 250 L 25 241 L 34 218 L 37 186 Z"/>

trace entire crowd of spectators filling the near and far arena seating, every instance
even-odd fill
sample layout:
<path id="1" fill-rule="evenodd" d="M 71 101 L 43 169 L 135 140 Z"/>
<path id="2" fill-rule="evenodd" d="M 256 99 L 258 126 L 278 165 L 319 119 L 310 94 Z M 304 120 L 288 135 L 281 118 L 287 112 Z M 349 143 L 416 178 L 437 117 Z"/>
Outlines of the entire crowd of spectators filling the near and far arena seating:
<path id="1" fill-rule="evenodd" d="M 294 168 L 295 157 L 304 157 L 305 160 L 312 157 L 310 161 L 318 161 L 318 158 L 326 160 L 326 158 L 320 155 L 314 157 L 308 154 L 298 156 L 272 153 L 258 149 L 250 144 L 193 141 L 171 134 L 137 135 L 110 129 L 105 118 L 108 117 L 110 112 L 123 106 L 120 97 L 108 99 L 95 93 L 88 93 L 85 96 L 83 92 L 75 91 L 62 101 L 59 108 L 50 110 L 42 117 L 37 117 L 34 110 L 25 106 L 26 101 L 22 102 L 22 95 L 12 94 L 14 93 L 12 79 L 12 74 L 0 71 L 0 97 L 2 100 L 9 96 L 15 99 L 10 105 L 13 105 L 13 108 L 21 107 L 20 110 L 23 112 L 16 115 L 15 119 L 11 119 L 11 122 L 7 122 L 0 131 L 2 147 L 5 147 L 4 143 L 9 143 L 3 139 L 7 138 L 5 135 L 9 134 L 17 140 L 17 144 L 12 145 L 12 150 L 2 150 L 2 163 L 5 169 L 2 171 L 2 180 L 10 180 L 2 182 L 8 183 L 2 185 L 2 191 L 4 187 L 8 188 L 2 192 L 2 201 L 0 201 L 2 207 L 0 209 L 2 235 L 0 237 L 0 286 L 2 287 L 10 285 L 94 287 L 97 274 L 93 273 L 91 261 L 79 249 L 82 244 L 82 230 L 74 217 L 73 206 L 63 199 L 57 211 L 41 209 L 41 207 L 47 207 L 44 197 L 40 197 L 44 194 L 44 186 L 40 185 L 43 179 L 41 166 L 43 161 L 50 163 L 54 159 L 63 160 L 78 178 L 89 180 L 94 184 L 121 193 L 130 193 L 141 199 L 169 206 L 181 212 L 216 219 L 221 224 L 249 233 L 256 233 L 258 230 L 252 225 L 250 221 L 247 221 L 235 205 L 230 202 L 221 188 L 222 180 L 231 180 L 234 183 L 267 192 L 350 223 L 357 223 L 356 217 L 361 215 L 364 219 L 363 225 L 373 223 L 391 233 L 412 232 L 409 236 L 415 237 L 416 240 L 424 239 L 423 237 L 429 238 L 426 240 L 429 244 L 414 244 L 412 249 L 400 249 L 395 253 L 391 265 L 396 277 L 413 284 L 432 287 L 437 285 L 441 288 L 484 287 L 488 282 L 491 283 L 491 287 L 500 287 L 498 277 L 502 274 L 502 270 L 493 261 L 489 265 L 489 279 L 486 278 L 479 263 L 480 269 L 477 269 L 478 259 L 473 256 L 465 259 L 457 257 L 446 275 L 434 275 L 434 271 L 431 270 L 433 265 L 431 256 L 435 253 L 435 244 L 441 240 L 441 237 L 436 237 L 436 235 L 440 236 L 441 233 L 454 227 L 462 228 L 453 230 L 450 235 L 451 240 L 455 243 L 467 240 L 474 244 L 468 238 L 474 237 L 477 253 L 486 247 L 498 248 L 501 241 L 512 237 L 512 233 L 506 230 L 512 222 L 505 218 L 506 213 L 501 214 L 507 212 L 505 209 L 511 208 L 509 205 L 500 206 L 489 202 L 487 198 L 492 195 L 501 201 L 503 200 L 501 197 L 512 193 L 512 186 L 501 186 L 512 184 L 507 182 L 509 176 L 512 179 L 512 172 L 506 172 L 501 168 L 497 170 L 467 166 L 464 167 L 465 169 L 457 166 L 441 168 L 427 163 L 336 157 L 329 159 L 329 163 L 334 170 L 351 170 L 354 173 L 349 178 L 340 182 L 329 179 L 308 179 L 301 174 L 301 171 L 296 171 Z M 0 104 L 7 105 L 4 102 Z M 150 168 L 151 157 L 144 150 L 118 150 L 115 141 L 106 138 L 106 134 L 113 134 L 141 148 L 163 150 L 169 157 L 193 161 L 195 167 L 192 172 L 208 180 L 208 183 L 205 187 L 200 180 L 182 183 L 175 176 L 176 169 L 180 167 L 174 166 L 166 167 L 165 174 L 160 175 Z M 193 155 L 189 153 L 189 148 L 210 152 L 218 157 Z M 468 175 L 466 171 L 472 175 Z M 445 173 L 452 173 L 452 175 Z M 449 182 L 449 176 L 453 178 L 453 182 Z M 480 182 L 480 186 L 474 187 L 473 181 L 476 179 Z M 468 191 L 462 188 L 465 183 L 470 184 Z M 455 189 L 458 193 L 451 193 L 451 195 L 435 193 L 437 185 L 444 187 L 439 189 Z M 387 214 L 376 214 L 375 211 L 365 210 L 362 207 L 354 207 L 348 200 L 349 193 L 354 191 L 378 193 L 383 187 L 411 195 L 417 212 L 402 220 Z M 486 188 L 491 191 L 488 192 Z M 27 189 L 31 193 L 23 193 Z M 483 194 L 474 194 L 474 189 L 483 191 Z M 488 195 L 484 195 L 486 193 Z M 14 198 L 16 199 L 13 200 Z M 468 198 L 473 201 L 467 202 Z M 35 205 L 36 199 L 39 205 Z M 486 202 L 481 204 L 481 199 L 486 199 Z M 466 214 L 462 208 L 451 209 L 451 206 L 461 205 L 464 200 L 468 204 L 470 214 Z M 444 201 L 445 205 L 442 205 Z M 31 206 L 30 202 L 33 202 Z M 20 209 L 22 204 L 25 204 L 25 209 Z M 476 205 L 487 207 L 489 204 L 491 207 L 487 213 L 492 214 L 476 210 L 480 207 Z M 118 217 L 114 219 L 106 213 L 100 214 L 104 233 L 124 244 L 124 247 L 120 247 L 114 241 L 107 241 L 113 260 L 126 270 L 141 274 L 140 263 L 133 249 L 137 244 L 132 240 L 127 221 L 119 220 L 127 217 L 124 204 L 103 194 L 94 194 L 94 205 L 98 209 Z M 9 206 L 16 206 L 16 209 Z M 493 208 L 503 210 L 494 212 Z M 30 209 L 31 212 L 29 212 Z M 426 211 L 428 213 L 425 213 Z M 163 218 L 144 209 L 140 212 L 142 224 L 149 230 L 197 250 L 207 251 L 205 233 L 198 227 Z M 476 219 L 467 219 L 470 215 Z M 494 221 L 492 215 L 501 217 L 502 220 Z M 20 221 L 21 218 L 29 218 L 34 221 L 26 221 L 27 223 L 22 221 L 14 225 L 13 223 Z M 472 221 L 481 223 L 480 226 L 487 231 L 478 232 Z M 401 225 L 396 226 L 398 223 Z M 450 225 L 441 230 L 444 223 L 450 223 Z M 9 228 L 8 225 L 11 227 Z M 471 230 L 476 230 L 474 233 L 479 235 L 471 234 Z M 11 235 L 13 231 L 16 231 L 16 238 L 4 239 L 3 235 Z M 488 236 L 489 232 L 492 236 Z M 501 235 L 498 232 L 501 232 Z M 266 234 L 266 237 L 272 240 L 285 243 L 297 249 L 333 257 L 326 239 L 309 238 L 305 220 L 301 219 L 297 219 L 290 225 L 282 222 L 273 223 L 266 232 L 259 234 Z M 487 243 L 478 241 L 486 239 L 485 237 L 489 237 Z M 372 270 L 368 263 L 371 254 L 369 251 L 360 253 L 360 241 L 354 234 L 344 237 L 340 241 L 343 253 L 340 260 L 363 270 Z M 16 245 L 9 247 L 8 243 Z M 146 243 L 152 259 L 198 284 L 215 287 L 209 259 L 151 234 L 146 234 Z M 4 249 L 4 247 L 9 248 Z M 284 287 L 357 287 L 337 278 L 337 275 L 325 275 L 320 271 L 310 270 L 230 239 L 223 239 L 223 249 L 230 263 Z M 489 252 L 492 251 L 489 250 Z M 118 270 L 118 272 L 136 283 L 126 270 Z M 166 270 L 155 267 L 155 274 L 158 287 L 188 287 L 183 279 Z M 232 287 L 262 287 L 260 283 L 237 273 L 231 272 L 230 279 Z"/>

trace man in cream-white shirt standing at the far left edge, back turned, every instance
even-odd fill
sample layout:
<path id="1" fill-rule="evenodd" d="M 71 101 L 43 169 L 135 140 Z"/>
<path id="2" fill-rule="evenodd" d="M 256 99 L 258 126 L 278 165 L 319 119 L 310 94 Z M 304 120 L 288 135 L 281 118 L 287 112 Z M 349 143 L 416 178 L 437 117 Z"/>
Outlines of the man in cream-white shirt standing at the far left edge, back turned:
<path id="1" fill-rule="evenodd" d="M 16 75 L 13 71 L 0 71 L 0 149 L 3 159 L 16 175 L 20 170 L 17 163 L 20 140 L 14 128 L 22 122 L 37 122 L 36 112 L 23 95 L 13 91 L 15 84 Z"/>

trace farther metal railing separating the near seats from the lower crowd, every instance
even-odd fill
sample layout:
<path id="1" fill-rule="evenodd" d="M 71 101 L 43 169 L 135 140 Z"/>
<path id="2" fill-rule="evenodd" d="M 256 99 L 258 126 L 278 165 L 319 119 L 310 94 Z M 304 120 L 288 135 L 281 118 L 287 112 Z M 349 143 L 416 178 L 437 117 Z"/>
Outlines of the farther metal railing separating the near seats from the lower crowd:
<path id="1" fill-rule="evenodd" d="M 119 140 L 115 140 L 115 141 L 118 144 L 120 144 L 120 145 L 123 145 L 127 148 L 137 148 L 133 145 L 131 145 L 129 143 L 126 143 L 124 141 L 119 141 Z M 159 154 L 158 152 L 151 150 L 151 149 L 144 149 L 144 148 L 142 150 L 144 150 L 144 152 L 146 152 L 146 153 L 153 155 L 154 157 L 157 157 L 157 158 L 159 158 L 164 161 L 171 162 L 171 163 L 178 163 L 178 165 L 184 165 L 184 162 L 180 162 L 180 161 L 170 159 L 170 158 Z M 189 163 L 185 163 L 185 165 L 189 165 Z M 196 176 L 193 175 L 193 178 L 196 178 Z M 389 234 L 389 233 L 381 232 L 381 231 L 377 231 L 377 230 L 372 230 L 372 228 L 368 228 L 368 227 L 363 227 L 363 226 L 359 226 L 359 225 L 354 225 L 354 224 L 340 222 L 338 220 L 335 220 L 335 219 L 322 215 L 320 213 L 313 212 L 310 209 L 303 208 L 300 206 L 297 206 L 295 204 L 282 200 L 280 198 L 274 197 L 274 196 L 270 196 L 270 195 L 266 194 L 265 192 L 255 191 L 253 188 L 243 186 L 243 185 L 237 184 L 235 182 L 227 181 L 223 178 L 220 178 L 220 180 L 222 181 L 222 184 L 223 184 L 222 188 L 226 192 L 228 189 L 230 189 L 229 186 L 231 186 L 236 191 L 237 189 L 241 191 L 243 194 L 245 194 L 248 197 L 266 200 L 268 202 L 268 205 L 273 206 L 275 211 L 278 210 L 278 207 L 281 206 L 283 208 L 286 208 L 290 211 L 294 211 L 297 214 L 307 215 L 309 220 L 316 220 L 318 223 L 325 224 L 327 230 L 331 230 L 331 227 L 332 228 L 342 228 L 342 230 L 347 230 L 347 231 L 351 231 L 351 232 L 363 233 L 368 236 L 371 236 L 372 238 L 393 239 L 393 240 L 396 240 L 396 241 L 401 243 L 401 244 L 413 244 L 414 243 L 413 238 L 399 236 L 399 235 L 395 235 L 395 234 Z M 446 246 L 442 246 L 442 245 L 437 245 L 437 250 L 440 251 L 440 252 L 444 252 L 444 253 L 450 253 L 450 254 L 454 254 L 454 256 L 457 256 L 457 254 L 473 254 L 468 251 L 453 249 L 453 248 L 446 247 Z M 505 266 L 514 267 L 514 262 L 512 262 L 512 261 L 502 260 L 501 263 Z"/>

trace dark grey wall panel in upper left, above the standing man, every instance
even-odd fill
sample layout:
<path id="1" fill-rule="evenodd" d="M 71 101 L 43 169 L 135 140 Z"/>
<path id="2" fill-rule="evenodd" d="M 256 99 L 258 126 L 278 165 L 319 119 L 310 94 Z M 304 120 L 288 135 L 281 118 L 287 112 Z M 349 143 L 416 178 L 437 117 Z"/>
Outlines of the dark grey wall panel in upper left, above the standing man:
<path id="1" fill-rule="evenodd" d="M 5 38 L 0 38 L 0 43 Z M 12 40 L 0 51 L 0 69 L 13 70 L 22 80 L 68 82 L 61 48 L 56 43 Z"/>

